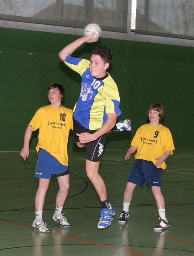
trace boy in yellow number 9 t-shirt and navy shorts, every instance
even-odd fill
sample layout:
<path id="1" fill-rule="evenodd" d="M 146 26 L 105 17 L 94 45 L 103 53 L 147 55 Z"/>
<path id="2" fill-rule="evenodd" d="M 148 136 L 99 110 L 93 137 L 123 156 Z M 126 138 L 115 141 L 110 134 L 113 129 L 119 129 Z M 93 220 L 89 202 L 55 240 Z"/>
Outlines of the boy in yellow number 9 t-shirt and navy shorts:
<path id="1" fill-rule="evenodd" d="M 152 104 L 147 111 L 150 123 L 140 126 L 131 142 L 125 160 L 137 149 L 135 163 L 131 169 L 124 191 L 123 211 L 118 222 L 125 223 L 129 217 L 129 206 L 133 191 L 137 185 L 151 187 L 159 212 L 159 220 L 154 227 L 161 230 L 170 225 L 165 215 L 164 197 L 160 190 L 162 169 L 166 169 L 164 160 L 173 154 L 174 144 L 169 129 L 160 124 L 164 116 L 161 104 Z"/>

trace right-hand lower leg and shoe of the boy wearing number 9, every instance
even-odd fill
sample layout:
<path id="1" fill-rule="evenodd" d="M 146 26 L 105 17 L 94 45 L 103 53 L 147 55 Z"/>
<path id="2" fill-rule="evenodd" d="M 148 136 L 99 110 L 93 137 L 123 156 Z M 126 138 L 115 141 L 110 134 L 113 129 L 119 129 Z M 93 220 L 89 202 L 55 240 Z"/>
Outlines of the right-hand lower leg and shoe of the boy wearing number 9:
<path id="1" fill-rule="evenodd" d="M 155 230 L 161 230 L 164 228 L 167 228 L 170 226 L 170 223 L 168 222 L 166 218 L 166 213 L 165 213 L 165 202 L 164 202 L 164 197 L 161 193 L 161 189 L 158 186 L 152 186 L 152 193 L 153 196 L 156 200 L 156 205 L 158 208 L 158 213 L 159 213 L 159 220 L 154 227 Z"/>

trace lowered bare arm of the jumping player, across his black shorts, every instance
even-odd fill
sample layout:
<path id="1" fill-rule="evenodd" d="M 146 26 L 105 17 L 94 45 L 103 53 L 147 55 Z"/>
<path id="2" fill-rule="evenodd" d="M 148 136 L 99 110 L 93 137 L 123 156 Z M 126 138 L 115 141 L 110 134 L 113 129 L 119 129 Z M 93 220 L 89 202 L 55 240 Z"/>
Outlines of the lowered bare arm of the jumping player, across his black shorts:
<path id="1" fill-rule="evenodd" d="M 107 121 L 102 127 L 95 133 L 91 134 L 88 132 L 76 133 L 81 143 L 88 143 L 93 140 L 97 140 L 103 134 L 108 133 L 116 124 L 117 113 L 107 113 Z"/>

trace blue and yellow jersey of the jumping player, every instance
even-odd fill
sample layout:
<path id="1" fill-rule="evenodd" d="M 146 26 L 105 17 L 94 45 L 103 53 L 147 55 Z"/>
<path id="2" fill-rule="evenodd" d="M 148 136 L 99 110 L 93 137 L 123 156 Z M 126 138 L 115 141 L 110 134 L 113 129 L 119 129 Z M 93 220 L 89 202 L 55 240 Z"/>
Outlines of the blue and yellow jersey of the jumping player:
<path id="1" fill-rule="evenodd" d="M 89 60 L 67 56 L 64 63 L 81 76 L 81 92 L 73 116 L 82 126 L 98 130 L 107 121 L 107 113 L 121 115 L 116 83 L 107 73 L 98 79 L 91 75 Z"/>

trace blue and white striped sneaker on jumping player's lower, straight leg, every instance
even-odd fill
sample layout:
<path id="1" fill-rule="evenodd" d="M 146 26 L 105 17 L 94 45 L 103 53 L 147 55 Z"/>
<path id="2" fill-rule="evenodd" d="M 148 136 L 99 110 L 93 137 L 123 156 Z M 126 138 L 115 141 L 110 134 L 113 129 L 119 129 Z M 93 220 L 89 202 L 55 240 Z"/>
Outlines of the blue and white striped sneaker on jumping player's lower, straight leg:
<path id="1" fill-rule="evenodd" d="M 110 226 L 113 216 L 115 215 L 115 210 L 112 208 L 112 206 L 109 204 L 109 208 L 102 208 L 100 213 L 101 213 L 101 218 L 100 221 L 98 222 L 98 229 L 102 228 L 107 228 Z"/>

